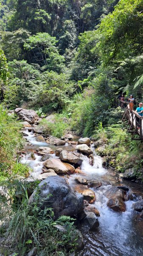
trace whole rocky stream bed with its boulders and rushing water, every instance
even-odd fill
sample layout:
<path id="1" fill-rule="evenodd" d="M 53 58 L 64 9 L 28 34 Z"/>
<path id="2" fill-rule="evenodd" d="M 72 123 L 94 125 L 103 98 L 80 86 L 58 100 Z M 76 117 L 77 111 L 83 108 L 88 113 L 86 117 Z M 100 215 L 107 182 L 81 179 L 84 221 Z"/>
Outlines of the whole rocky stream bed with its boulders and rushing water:
<path id="1" fill-rule="evenodd" d="M 31 166 L 30 176 L 43 180 L 46 189 L 52 182 L 59 188 L 63 180 L 67 194 L 73 193 L 74 200 L 80 202 L 79 208 L 64 212 L 76 216 L 84 236 L 84 249 L 78 255 L 142 256 L 143 187 L 104 169 L 89 138 L 73 134 L 47 138 L 35 121 L 24 122 L 27 143 L 20 161 Z"/>

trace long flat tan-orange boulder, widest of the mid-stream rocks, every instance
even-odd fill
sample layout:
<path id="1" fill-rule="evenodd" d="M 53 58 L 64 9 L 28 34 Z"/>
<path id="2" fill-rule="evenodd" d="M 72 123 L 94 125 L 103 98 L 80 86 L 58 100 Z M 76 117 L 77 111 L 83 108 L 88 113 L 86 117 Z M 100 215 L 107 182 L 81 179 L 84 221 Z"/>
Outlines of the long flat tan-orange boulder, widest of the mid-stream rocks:
<path id="1" fill-rule="evenodd" d="M 58 158 L 53 158 L 45 161 L 44 166 L 47 169 L 53 169 L 57 174 L 73 174 L 75 168 L 69 163 L 63 163 Z"/>

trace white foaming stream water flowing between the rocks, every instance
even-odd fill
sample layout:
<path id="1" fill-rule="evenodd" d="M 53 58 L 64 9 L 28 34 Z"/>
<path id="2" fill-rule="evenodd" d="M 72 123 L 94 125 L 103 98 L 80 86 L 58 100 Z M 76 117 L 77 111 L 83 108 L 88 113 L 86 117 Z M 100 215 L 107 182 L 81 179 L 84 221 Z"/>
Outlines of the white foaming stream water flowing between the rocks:
<path id="1" fill-rule="evenodd" d="M 40 146 L 50 147 L 53 150 L 61 146 L 55 146 L 47 143 L 37 142 L 33 132 L 25 129 L 25 138 L 32 145 L 26 148 L 27 154 L 22 156 L 21 163 L 27 163 L 31 166 L 32 177 L 37 177 L 41 173 L 43 162 L 41 156 L 34 154 L 35 160 L 31 160 L 31 151 Z M 92 145 L 93 146 L 93 145 Z M 62 146 L 68 151 L 75 150 L 75 147 L 66 143 Z M 51 154 L 52 158 L 56 158 L 55 154 Z M 104 169 L 102 167 L 102 158 L 94 155 L 94 165 L 90 166 L 89 159 L 84 156 L 81 166 L 81 174 L 70 175 L 68 179 L 70 186 L 77 186 L 76 176 L 82 176 L 89 180 L 99 180 L 102 186 L 93 189 L 96 195 L 96 201 L 92 204 L 100 212 L 98 217 L 99 227 L 95 232 L 82 227 L 84 236 L 84 250 L 79 256 L 143 256 L 143 219 L 137 219 L 138 213 L 132 209 L 132 204 L 143 198 L 143 186 L 132 183 L 128 180 L 122 180 L 115 172 Z M 125 212 L 115 212 L 107 207 L 106 191 L 112 186 L 128 186 L 129 191 L 133 194 L 133 200 L 126 201 Z"/>

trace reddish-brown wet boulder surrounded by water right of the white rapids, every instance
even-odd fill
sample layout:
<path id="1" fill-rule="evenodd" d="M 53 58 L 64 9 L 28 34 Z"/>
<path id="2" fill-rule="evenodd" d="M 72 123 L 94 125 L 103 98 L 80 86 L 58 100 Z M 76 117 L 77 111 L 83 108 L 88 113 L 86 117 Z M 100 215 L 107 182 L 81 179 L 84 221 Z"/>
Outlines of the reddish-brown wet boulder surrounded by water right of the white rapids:
<path id="1" fill-rule="evenodd" d="M 126 204 L 125 204 L 125 196 L 126 192 L 122 189 L 118 189 L 117 187 L 112 187 L 106 193 L 107 198 L 109 198 L 107 202 L 107 206 L 110 209 L 113 209 L 116 212 L 125 212 Z"/>

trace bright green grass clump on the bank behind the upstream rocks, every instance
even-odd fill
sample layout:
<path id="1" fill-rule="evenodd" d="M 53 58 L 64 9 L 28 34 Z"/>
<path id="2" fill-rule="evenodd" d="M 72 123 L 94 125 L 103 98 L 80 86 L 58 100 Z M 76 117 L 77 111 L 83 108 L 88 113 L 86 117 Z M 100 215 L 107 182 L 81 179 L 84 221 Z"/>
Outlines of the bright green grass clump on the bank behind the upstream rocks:
<path id="1" fill-rule="evenodd" d="M 40 125 L 44 127 L 45 134 L 61 138 L 69 129 L 68 123 L 63 120 L 64 117 L 62 114 L 55 114 L 54 122 L 48 122 L 45 118 L 42 119 Z"/>

